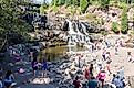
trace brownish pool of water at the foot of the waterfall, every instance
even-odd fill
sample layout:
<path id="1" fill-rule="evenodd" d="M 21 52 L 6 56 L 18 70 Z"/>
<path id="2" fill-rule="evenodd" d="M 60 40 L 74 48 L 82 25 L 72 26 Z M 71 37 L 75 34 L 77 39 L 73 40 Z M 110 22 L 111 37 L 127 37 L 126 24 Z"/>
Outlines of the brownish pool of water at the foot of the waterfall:
<path id="1" fill-rule="evenodd" d="M 64 45 L 64 46 L 47 47 L 45 50 L 42 51 L 42 53 L 45 55 L 48 61 L 54 61 L 62 57 L 66 52 L 70 51 L 79 52 L 84 50 L 85 47 Z"/>

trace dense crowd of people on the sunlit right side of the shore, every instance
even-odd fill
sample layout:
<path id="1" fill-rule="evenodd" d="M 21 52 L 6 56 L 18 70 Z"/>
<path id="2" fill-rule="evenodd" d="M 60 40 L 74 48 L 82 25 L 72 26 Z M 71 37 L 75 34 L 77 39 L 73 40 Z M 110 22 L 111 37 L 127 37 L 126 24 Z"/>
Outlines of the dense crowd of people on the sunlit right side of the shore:
<path id="1" fill-rule="evenodd" d="M 100 43 L 102 43 L 102 44 L 100 44 Z M 125 88 L 126 81 L 125 81 L 125 76 L 124 76 L 124 67 L 121 67 L 116 74 L 113 73 L 111 70 L 111 63 L 113 59 L 111 56 L 111 52 L 107 51 L 109 48 L 112 47 L 112 48 L 114 48 L 114 55 L 118 55 L 120 47 L 124 46 L 122 38 L 117 38 L 113 46 L 110 43 L 110 41 L 104 40 L 103 42 L 100 42 L 100 43 L 94 43 L 94 45 L 92 46 L 93 48 L 90 48 L 90 50 L 92 51 L 91 53 L 94 53 L 94 51 L 102 50 L 103 52 L 102 52 L 101 61 L 105 62 L 105 63 L 97 64 L 97 66 L 94 66 L 95 64 L 94 65 L 91 64 L 90 67 L 87 64 L 87 66 L 85 68 L 85 73 L 84 73 L 85 79 L 87 80 L 85 88 L 105 88 L 104 85 L 106 86 L 105 79 L 106 79 L 107 75 L 109 76 L 113 75 L 113 77 L 111 77 L 111 80 L 109 82 L 106 81 L 111 88 Z M 127 55 L 126 56 L 127 62 L 134 63 L 134 57 L 132 55 L 132 52 L 126 52 L 126 55 Z M 81 59 L 82 57 L 83 56 L 80 56 L 80 58 L 78 59 L 78 62 L 81 62 L 81 63 L 79 63 L 80 65 L 82 65 L 82 59 Z M 95 59 L 96 59 L 96 57 L 97 56 L 95 56 Z M 94 75 L 93 70 L 95 70 L 97 68 L 99 68 L 97 75 Z M 75 77 L 73 85 L 74 85 L 74 88 L 82 88 L 82 82 L 79 80 L 79 76 Z"/>

